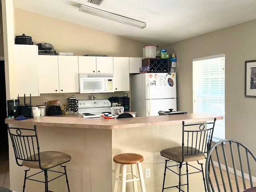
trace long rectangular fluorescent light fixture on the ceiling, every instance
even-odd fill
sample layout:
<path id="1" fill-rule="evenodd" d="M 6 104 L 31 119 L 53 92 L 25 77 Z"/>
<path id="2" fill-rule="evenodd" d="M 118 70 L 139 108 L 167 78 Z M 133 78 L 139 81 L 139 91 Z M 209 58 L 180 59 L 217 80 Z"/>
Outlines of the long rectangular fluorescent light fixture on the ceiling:
<path id="1" fill-rule="evenodd" d="M 90 6 L 86 6 L 86 5 L 83 5 L 83 4 L 80 5 L 79 11 L 84 12 L 84 13 L 88 13 L 88 14 L 91 14 L 91 15 L 94 15 L 94 16 L 102 17 L 102 18 L 105 18 L 105 19 L 109 19 L 109 20 L 112 20 L 112 21 L 120 22 L 122 24 L 130 25 L 130 26 L 133 26 L 133 27 L 138 27 L 138 28 L 141 28 L 141 29 L 145 28 L 146 25 L 147 25 L 145 22 L 134 20 L 134 19 L 131 19 L 131 18 L 128 18 L 128 17 L 124 17 L 124 16 L 121 16 L 121 15 L 118 15 L 118 14 L 103 11 L 103 10 L 93 8 L 93 7 L 90 7 Z"/>

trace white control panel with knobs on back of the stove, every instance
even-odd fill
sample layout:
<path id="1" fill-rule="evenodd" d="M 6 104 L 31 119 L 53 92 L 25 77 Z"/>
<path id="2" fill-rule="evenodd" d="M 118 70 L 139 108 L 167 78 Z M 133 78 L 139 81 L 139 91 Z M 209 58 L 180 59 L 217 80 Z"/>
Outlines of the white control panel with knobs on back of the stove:
<path id="1" fill-rule="evenodd" d="M 111 107 L 111 102 L 107 99 L 78 100 L 78 108 L 100 108 L 100 107 Z"/>

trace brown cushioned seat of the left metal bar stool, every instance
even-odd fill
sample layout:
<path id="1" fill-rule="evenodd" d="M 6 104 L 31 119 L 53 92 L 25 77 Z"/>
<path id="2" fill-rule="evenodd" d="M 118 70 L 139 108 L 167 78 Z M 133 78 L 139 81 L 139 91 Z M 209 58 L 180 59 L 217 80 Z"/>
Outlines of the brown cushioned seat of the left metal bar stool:
<path id="1" fill-rule="evenodd" d="M 38 153 L 35 154 L 35 156 L 36 156 L 36 160 L 38 160 Z M 29 159 L 31 159 L 31 157 L 29 157 L 28 160 Z M 60 165 L 65 162 L 68 162 L 70 160 L 71 160 L 71 156 L 63 152 L 58 152 L 58 151 L 40 152 L 41 167 L 43 169 L 48 169 L 56 165 Z M 29 168 L 40 169 L 38 161 L 23 161 L 22 165 Z"/>

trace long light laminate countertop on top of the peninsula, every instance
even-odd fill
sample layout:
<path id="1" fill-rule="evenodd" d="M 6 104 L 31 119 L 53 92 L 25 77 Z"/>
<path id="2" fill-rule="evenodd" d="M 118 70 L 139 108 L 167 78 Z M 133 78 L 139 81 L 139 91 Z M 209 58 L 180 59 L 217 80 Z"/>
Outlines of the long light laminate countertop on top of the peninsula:
<path id="1" fill-rule="evenodd" d="M 96 118 L 67 118 L 42 116 L 40 119 L 14 120 L 6 118 L 6 124 L 17 125 L 37 125 L 37 126 L 53 126 L 53 127 L 76 127 L 76 128 L 93 128 L 93 129 L 120 129 L 154 125 L 169 125 L 182 124 L 193 122 L 210 121 L 216 118 L 222 120 L 223 116 L 215 114 L 188 113 L 176 115 L 161 115 L 135 118 L 120 118 L 120 119 L 96 119 Z"/>

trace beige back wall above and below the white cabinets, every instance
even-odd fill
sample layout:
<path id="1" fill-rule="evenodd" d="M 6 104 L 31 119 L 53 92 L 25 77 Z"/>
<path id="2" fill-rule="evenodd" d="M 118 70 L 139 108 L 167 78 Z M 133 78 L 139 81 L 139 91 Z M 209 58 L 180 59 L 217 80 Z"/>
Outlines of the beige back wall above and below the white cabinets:
<path id="1" fill-rule="evenodd" d="M 26 34 L 32 36 L 34 44 L 50 43 L 57 53 L 73 52 L 78 56 L 84 54 L 106 54 L 108 56 L 142 57 L 143 55 L 142 46 L 146 44 L 144 42 L 17 8 L 14 9 L 14 13 L 15 36 Z M 97 99 L 108 99 L 112 96 L 123 96 L 124 93 L 126 92 L 94 95 L 96 95 Z M 130 97 L 130 91 L 127 93 Z M 88 100 L 91 94 L 41 94 L 40 97 L 32 97 L 32 104 L 42 105 L 44 100 L 55 99 L 65 104 L 72 95 L 80 100 Z M 23 100 L 23 98 L 20 99 Z"/>

